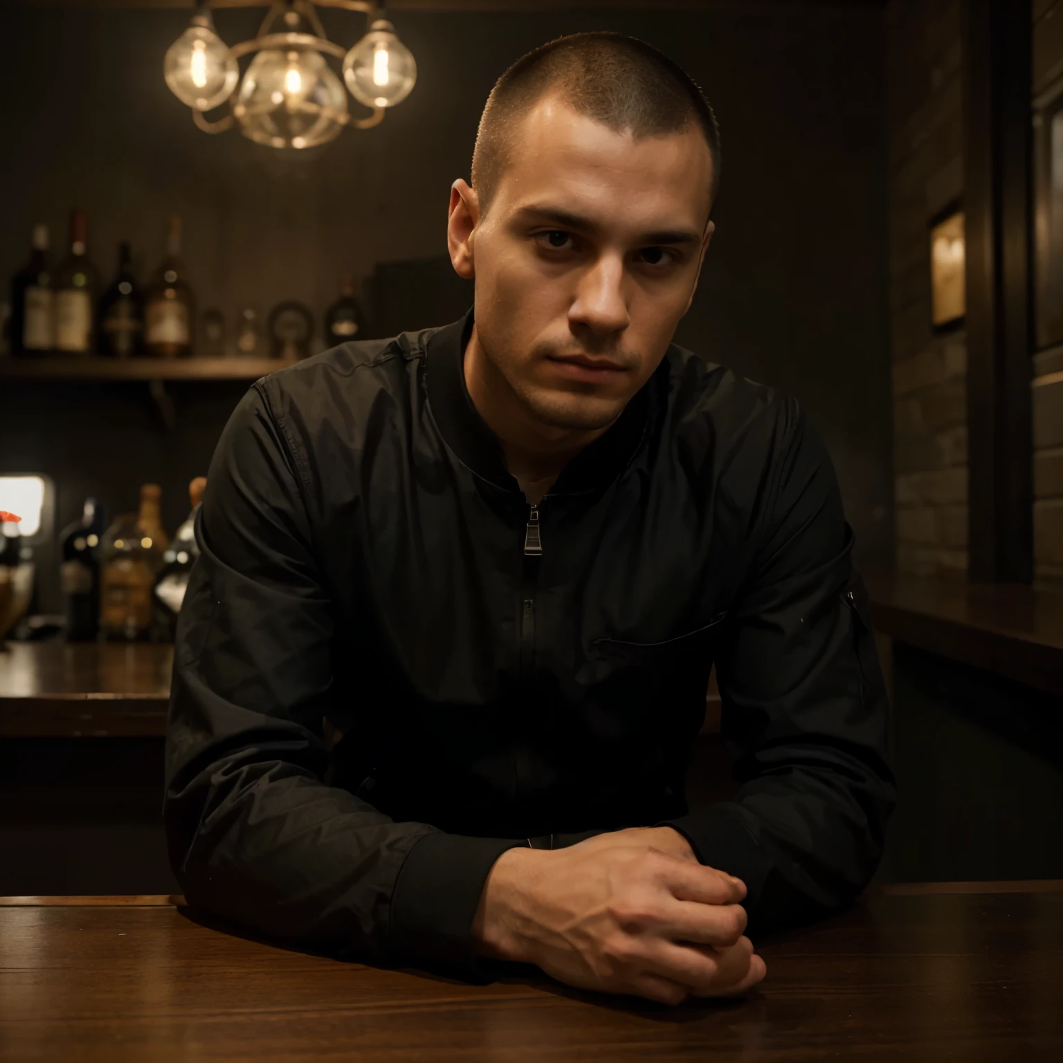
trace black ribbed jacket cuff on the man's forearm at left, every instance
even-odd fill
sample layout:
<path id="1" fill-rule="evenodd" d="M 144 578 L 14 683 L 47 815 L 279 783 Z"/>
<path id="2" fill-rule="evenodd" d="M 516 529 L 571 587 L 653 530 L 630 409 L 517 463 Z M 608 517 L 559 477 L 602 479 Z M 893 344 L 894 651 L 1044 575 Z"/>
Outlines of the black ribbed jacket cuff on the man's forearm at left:
<path id="1" fill-rule="evenodd" d="M 400 963 L 444 967 L 475 981 L 491 965 L 473 950 L 472 922 L 495 860 L 526 842 L 434 831 L 419 839 L 391 895 L 391 947 Z"/>

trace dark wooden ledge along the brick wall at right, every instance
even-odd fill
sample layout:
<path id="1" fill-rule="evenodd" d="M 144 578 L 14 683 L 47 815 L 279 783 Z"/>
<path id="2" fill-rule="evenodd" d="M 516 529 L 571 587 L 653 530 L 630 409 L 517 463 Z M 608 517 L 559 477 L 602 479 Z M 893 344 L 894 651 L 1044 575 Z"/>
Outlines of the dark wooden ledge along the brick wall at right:
<path id="1" fill-rule="evenodd" d="M 1063 695 L 1063 586 L 864 573 L 875 629 L 898 642 Z"/>

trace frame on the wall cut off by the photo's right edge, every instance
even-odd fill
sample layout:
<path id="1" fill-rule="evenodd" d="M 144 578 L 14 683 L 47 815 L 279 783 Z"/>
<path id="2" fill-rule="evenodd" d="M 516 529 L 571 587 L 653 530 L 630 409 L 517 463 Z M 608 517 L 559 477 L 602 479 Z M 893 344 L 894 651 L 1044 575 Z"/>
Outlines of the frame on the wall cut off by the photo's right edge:
<path id="1" fill-rule="evenodd" d="M 1063 80 L 1033 101 L 1037 350 L 1063 343 Z"/>

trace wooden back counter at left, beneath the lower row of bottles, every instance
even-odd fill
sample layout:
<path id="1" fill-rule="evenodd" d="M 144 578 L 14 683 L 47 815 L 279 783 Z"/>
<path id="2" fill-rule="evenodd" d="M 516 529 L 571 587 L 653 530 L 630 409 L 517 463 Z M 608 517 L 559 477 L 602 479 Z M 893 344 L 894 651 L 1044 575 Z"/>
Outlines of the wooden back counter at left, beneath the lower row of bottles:
<path id="1" fill-rule="evenodd" d="M 0 647 L 0 738 L 166 733 L 173 646 L 7 642 Z"/>

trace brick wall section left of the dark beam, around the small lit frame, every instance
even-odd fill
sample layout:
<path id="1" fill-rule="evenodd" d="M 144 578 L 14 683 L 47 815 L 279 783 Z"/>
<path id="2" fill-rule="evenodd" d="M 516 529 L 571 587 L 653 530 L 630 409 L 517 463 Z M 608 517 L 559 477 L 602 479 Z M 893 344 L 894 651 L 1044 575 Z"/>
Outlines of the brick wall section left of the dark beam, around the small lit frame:
<path id="1" fill-rule="evenodd" d="M 930 222 L 963 191 L 960 0 L 891 0 L 890 313 L 899 572 L 967 571 L 967 351 L 930 323 Z"/>

